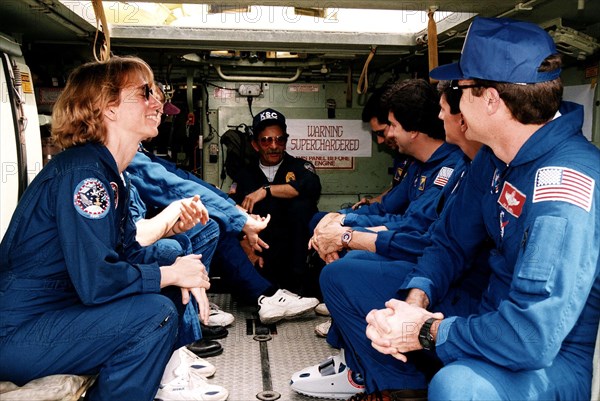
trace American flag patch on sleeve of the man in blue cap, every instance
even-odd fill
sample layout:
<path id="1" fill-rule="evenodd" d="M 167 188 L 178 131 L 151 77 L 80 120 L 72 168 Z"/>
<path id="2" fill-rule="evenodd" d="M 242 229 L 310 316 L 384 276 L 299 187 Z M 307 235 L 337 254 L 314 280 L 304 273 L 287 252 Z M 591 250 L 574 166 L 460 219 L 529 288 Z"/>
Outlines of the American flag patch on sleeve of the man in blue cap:
<path id="1" fill-rule="evenodd" d="M 595 181 L 579 171 L 544 167 L 535 175 L 532 202 L 563 201 L 590 211 Z"/>

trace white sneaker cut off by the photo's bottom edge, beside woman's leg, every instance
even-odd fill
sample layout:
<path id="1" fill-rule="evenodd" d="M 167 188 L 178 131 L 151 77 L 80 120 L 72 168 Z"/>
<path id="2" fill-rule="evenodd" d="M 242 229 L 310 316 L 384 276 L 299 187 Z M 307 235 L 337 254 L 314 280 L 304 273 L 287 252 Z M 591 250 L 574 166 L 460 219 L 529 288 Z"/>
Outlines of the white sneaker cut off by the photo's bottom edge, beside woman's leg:
<path id="1" fill-rule="evenodd" d="M 229 392 L 216 384 L 204 380 L 185 380 L 177 377 L 173 381 L 162 384 L 154 396 L 156 401 L 225 401 Z"/>

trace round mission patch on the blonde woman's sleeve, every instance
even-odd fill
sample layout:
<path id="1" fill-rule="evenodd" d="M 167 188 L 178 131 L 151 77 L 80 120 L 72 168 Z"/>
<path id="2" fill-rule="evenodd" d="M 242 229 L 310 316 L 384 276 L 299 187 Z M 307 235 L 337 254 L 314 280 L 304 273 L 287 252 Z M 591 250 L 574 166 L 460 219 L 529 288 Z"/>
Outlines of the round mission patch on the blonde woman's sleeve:
<path id="1" fill-rule="evenodd" d="M 101 219 L 110 210 L 110 196 L 99 179 L 86 178 L 75 188 L 73 205 L 83 217 Z"/>

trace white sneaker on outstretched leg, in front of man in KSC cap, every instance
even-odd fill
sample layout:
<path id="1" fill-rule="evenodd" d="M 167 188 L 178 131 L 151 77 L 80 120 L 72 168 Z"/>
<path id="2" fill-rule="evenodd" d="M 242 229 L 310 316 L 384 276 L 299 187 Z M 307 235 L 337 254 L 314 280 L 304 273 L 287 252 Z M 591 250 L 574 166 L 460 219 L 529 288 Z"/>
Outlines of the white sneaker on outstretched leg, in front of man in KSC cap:
<path id="1" fill-rule="evenodd" d="M 261 295 L 258 298 L 258 317 L 264 324 L 275 323 L 311 312 L 318 303 L 317 298 L 303 298 L 288 290 L 277 290 L 271 297 Z"/>

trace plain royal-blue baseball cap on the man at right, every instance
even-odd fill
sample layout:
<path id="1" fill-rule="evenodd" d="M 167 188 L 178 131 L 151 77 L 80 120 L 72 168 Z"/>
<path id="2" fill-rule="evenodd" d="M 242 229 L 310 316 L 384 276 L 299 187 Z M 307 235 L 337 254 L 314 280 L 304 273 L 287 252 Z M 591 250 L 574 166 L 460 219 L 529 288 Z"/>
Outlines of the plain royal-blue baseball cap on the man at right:
<path id="1" fill-rule="evenodd" d="M 538 72 L 542 61 L 558 53 L 552 37 L 539 26 L 508 18 L 475 17 L 460 61 L 434 68 L 438 80 L 484 79 L 515 84 L 551 81 L 560 69 Z"/>

